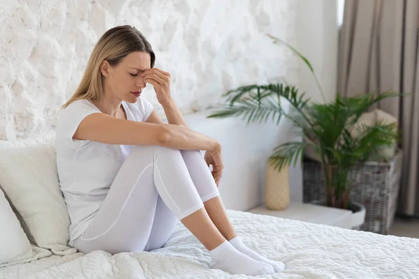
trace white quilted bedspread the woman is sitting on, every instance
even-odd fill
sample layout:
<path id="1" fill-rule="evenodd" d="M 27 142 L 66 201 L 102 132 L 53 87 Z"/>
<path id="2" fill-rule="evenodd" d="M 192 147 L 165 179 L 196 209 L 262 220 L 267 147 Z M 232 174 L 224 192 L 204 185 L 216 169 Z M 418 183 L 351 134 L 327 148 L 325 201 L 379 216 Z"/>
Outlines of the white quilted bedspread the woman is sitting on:
<path id="1" fill-rule="evenodd" d="M 249 248 L 286 264 L 282 273 L 256 278 L 419 278 L 419 239 L 228 213 Z M 209 264 L 209 252 L 178 223 L 153 252 L 53 255 L 0 269 L 0 278 L 247 278 Z"/>

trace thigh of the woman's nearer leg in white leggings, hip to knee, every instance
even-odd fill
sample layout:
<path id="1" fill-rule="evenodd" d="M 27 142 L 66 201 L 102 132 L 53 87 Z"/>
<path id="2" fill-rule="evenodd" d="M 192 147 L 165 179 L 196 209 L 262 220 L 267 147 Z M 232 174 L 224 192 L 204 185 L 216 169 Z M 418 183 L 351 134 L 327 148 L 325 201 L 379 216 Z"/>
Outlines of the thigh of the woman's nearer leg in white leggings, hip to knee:
<path id="1" fill-rule="evenodd" d="M 153 172 L 152 153 L 134 148 L 119 169 L 101 208 L 73 246 L 84 253 L 145 250 L 159 197 Z"/>

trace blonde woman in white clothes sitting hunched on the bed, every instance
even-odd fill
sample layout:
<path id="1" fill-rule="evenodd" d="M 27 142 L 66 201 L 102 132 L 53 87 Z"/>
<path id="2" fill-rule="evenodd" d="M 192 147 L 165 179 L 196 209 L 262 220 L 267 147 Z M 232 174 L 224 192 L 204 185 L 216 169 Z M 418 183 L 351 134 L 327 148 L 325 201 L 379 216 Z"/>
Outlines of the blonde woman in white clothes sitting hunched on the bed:
<path id="1" fill-rule="evenodd" d="M 170 74 L 154 68 L 155 61 L 134 27 L 106 31 L 60 112 L 57 167 L 71 218 L 69 244 L 86 253 L 154 250 L 179 219 L 210 250 L 212 268 L 281 271 L 284 264 L 258 255 L 237 236 L 217 188 L 221 145 L 187 128 L 170 96 Z M 147 83 L 168 124 L 140 97 Z"/>

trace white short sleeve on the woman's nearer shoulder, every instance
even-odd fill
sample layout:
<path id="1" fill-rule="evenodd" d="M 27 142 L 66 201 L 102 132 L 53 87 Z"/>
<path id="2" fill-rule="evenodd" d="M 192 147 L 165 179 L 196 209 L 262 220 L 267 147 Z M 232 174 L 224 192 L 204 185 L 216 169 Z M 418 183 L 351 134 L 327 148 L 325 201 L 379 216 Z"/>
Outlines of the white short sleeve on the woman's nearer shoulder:
<path id="1" fill-rule="evenodd" d="M 101 111 L 88 100 L 76 100 L 61 111 L 58 117 L 56 137 L 64 144 L 79 149 L 89 140 L 73 140 L 75 131 L 86 116 Z"/>

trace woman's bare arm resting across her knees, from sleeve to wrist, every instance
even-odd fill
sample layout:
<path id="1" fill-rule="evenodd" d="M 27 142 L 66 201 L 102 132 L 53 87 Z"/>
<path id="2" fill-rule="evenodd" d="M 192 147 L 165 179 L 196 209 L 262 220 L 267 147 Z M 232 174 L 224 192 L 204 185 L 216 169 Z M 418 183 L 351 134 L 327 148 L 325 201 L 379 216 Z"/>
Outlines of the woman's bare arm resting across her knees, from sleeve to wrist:
<path id="1" fill-rule="evenodd" d="M 172 149 L 221 149 L 221 144 L 212 137 L 182 126 L 117 119 L 103 113 L 85 117 L 73 139 L 106 144 L 159 145 Z"/>

